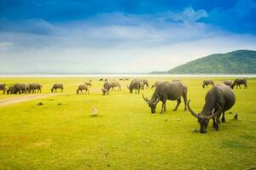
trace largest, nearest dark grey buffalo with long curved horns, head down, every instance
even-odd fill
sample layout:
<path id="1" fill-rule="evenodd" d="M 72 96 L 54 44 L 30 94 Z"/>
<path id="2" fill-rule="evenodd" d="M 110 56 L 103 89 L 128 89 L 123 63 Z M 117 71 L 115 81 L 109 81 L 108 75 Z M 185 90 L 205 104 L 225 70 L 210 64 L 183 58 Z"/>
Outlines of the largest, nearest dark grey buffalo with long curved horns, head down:
<path id="1" fill-rule="evenodd" d="M 196 114 L 189 106 L 189 112 L 198 119 L 200 123 L 200 133 L 207 133 L 207 126 L 210 119 L 213 120 L 213 127 L 218 130 L 219 117 L 222 114 L 221 122 L 225 122 L 224 112 L 230 110 L 236 103 L 233 90 L 225 85 L 216 85 L 211 88 L 206 95 L 205 105 L 199 114 Z"/>

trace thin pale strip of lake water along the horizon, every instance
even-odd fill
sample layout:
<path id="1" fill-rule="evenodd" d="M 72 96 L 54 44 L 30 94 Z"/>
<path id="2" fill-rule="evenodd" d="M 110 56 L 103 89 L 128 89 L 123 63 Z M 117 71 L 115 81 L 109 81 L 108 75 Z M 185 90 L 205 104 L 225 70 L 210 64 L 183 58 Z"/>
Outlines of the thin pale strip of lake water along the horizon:
<path id="1" fill-rule="evenodd" d="M 3 74 L 0 77 L 256 77 L 256 74 Z"/>

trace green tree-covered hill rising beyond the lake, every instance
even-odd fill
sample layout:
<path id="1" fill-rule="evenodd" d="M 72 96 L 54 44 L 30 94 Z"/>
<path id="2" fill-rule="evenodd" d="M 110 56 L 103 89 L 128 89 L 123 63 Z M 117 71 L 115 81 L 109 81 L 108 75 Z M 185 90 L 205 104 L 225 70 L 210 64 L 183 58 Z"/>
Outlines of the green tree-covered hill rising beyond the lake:
<path id="1" fill-rule="evenodd" d="M 212 54 L 179 65 L 172 74 L 253 74 L 256 73 L 256 51 L 238 50 L 226 54 Z"/>

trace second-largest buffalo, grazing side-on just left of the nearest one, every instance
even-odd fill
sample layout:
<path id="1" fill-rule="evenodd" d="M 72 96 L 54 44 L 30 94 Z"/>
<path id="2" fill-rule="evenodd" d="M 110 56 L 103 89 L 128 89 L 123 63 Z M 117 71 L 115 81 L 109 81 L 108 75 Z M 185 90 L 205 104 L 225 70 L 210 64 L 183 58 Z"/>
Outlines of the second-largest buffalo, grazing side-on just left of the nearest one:
<path id="1" fill-rule="evenodd" d="M 183 97 L 185 108 L 187 110 L 187 92 L 188 88 L 183 84 L 183 82 L 162 82 L 155 88 L 154 94 L 151 99 L 147 99 L 143 95 L 143 99 L 148 103 L 151 108 L 151 113 L 155 113 L 156 105 L 159 101 L 162 102 L 162 109 L 160 113 L 166 111 L 166 100 L 177 100 L 177 105 L 173 111 L 177 111 L 178 105 L 181 103 L 181 98 Z"/>

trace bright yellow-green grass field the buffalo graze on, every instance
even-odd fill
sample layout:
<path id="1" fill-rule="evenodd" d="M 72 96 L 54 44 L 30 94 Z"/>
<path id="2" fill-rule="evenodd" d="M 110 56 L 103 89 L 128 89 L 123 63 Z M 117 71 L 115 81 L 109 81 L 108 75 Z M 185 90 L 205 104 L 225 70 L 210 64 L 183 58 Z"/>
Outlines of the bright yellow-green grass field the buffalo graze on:
<path id="1" fill-rule="evenodd" d="M 77 95 L 79 84 L 91 78 L 0 78 L 14 82 L 40 82 L 43 94 L 54 82 L 64 84 L 63 95 L 0 106 L 0 169 L 246 169 L 256 167 L 256 79 L 248 89 L 235 89 L 236 105 L 226 113 L 218 132 L 209 123 L 208 133 L 192 133 L 199 123 L 183 102 L 168 101 L 160 115 L 160 103 L 152 116 L 142 94 L 122 91 L 102 96 L 102 84 L 92 78 L 90 94 Z M 172 81 L 173 77 L 148 78 Z M 208 89 L 203 79 L 181 78 L 188 86 L 194 111 L 201 111 Z M 220 83 L 224 77 L 212 78 Z M 25 94 L 22 94 L 25 95 Z M 3 95 L 0 99 L 20 95 Z M 44 105 L 38 105 L 42 102 Z M 61 105 L 58 105 L 61 104 Z M 90 116 L 96 108 L 98 116 Z M 180 121 L 177 121 L 177 119 Z"/>

